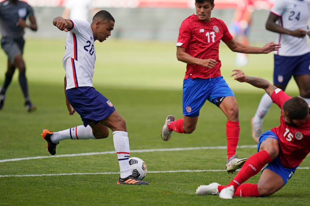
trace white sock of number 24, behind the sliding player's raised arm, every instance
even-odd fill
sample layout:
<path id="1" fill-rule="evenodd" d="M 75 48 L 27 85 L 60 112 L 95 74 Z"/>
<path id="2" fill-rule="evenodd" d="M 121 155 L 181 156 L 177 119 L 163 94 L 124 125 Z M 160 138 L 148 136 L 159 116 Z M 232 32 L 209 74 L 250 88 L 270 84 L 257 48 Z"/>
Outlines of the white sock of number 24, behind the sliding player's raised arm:
<path id="1" fill-rule="evenodd" d="M 271 105 L 272 105 L 272 99 L 267 93 L 265 93 L 262 96 L 262 99 L 260 100 L 259 105 L 257 107 L 256 113 L 253 119 L 253 124 L 255 124 L 256 126 L 261 126 L 263 124 L 264 116 L 269 111 L 269 108 L 271 107 Z"/>

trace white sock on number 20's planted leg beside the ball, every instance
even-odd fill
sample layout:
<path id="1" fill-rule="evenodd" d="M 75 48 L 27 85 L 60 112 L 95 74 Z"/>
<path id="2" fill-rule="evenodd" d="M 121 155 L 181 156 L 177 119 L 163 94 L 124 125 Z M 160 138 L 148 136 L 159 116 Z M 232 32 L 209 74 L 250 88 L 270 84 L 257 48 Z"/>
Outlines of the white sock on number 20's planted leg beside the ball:
<path id="1" fill-rule="evenodd" d="M 113 133 L 114 148 L 117 153 L 119 169 L 121 172 L 121 178 L 126 178 L 131 175 L 129 168 L 129 139 L 128 133 L 122 131 L 114 131 Z"/>

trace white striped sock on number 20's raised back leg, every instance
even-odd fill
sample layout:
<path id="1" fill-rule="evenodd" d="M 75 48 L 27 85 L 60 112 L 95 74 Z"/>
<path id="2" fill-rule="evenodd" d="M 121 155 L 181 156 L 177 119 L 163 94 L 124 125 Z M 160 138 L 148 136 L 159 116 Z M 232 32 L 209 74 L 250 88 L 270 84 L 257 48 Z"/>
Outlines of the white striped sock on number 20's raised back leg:
<path id="1" fill-rule="evenodd" d="M 93 135 L 91 126 L 80 125 L 77 127 L 73 127 L 70 129 L 66 129 L 59 132 L 53 132 L 51 136 L 51 141 L 53 143 L 59 142 L 61 140 L 72 139 L 72 140 L 88 140 L 88 139 L 96 139 Z"/>

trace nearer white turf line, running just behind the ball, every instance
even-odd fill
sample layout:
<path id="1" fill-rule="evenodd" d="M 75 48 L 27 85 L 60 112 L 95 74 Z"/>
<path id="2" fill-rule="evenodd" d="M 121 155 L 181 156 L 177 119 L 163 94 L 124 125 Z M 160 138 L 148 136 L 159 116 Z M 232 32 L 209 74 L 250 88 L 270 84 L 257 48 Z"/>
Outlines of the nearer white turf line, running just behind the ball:
<path id="1" fill-rule="evenodd" d="M 297 169 L 309 170 L 309 167 L 298 167 Z M 226 170 L 170 170 L 170 171 L 148 171 L 147 173 L 172 173 L 172 172 L 226 172 Z M 237 170 L 239 171 L 239 170 Z M 87 175 L 87 174 L 119 174 L 119 172 L 89 172 L 89 173 L 60 173 L 60 174 L 24 174 L 24 175 L 0 175 L 0 177 L 40 177 L 60 175 Z"/>

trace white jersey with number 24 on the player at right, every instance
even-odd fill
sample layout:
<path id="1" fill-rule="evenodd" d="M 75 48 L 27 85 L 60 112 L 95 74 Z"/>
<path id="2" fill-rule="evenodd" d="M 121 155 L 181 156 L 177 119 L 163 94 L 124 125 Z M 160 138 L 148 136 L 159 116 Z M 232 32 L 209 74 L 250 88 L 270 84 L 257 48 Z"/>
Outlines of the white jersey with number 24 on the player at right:
<path id="1" fill-rule="evenodd" d="M 278 24 L 281 27 L 291 31 L 296 29 L 308 31 L 310 0 L 277 0 L 270 12 L 279 17 Z M 308 53 L 307 36 L 299 38 L 279 34 L 276 42 L 281 44 L 281 48 L 274 53 L 280 56 L 300 56 Z"/>

